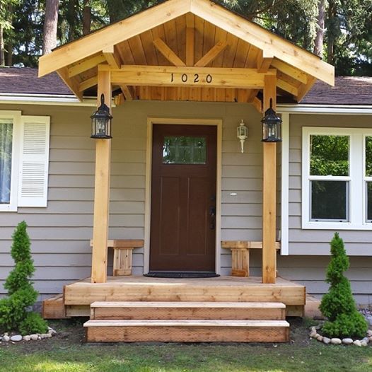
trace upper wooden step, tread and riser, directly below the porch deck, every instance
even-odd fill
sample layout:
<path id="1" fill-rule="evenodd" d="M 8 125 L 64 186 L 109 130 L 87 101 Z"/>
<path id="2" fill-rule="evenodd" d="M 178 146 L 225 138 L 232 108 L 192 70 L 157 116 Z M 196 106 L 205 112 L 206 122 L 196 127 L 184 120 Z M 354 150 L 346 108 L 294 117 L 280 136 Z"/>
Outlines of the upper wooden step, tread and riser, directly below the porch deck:
<path id="1" fill-rule="evenodd" d="M 284 320 L 284 303 L 256 302 L 94 302 L 91 319 Z"/>

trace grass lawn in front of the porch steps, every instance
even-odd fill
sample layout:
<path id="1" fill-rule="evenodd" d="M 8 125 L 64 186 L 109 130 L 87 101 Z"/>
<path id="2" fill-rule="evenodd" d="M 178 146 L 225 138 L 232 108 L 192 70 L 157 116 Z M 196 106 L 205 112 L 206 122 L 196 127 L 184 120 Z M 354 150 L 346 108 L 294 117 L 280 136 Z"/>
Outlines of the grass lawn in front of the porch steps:
<path id="1" fill-rule="evenodd" d="M 81 324 L 52 324 L 40 342 L 0 345 L 6 372 L 284 372 L 372 371 L 372 346 L 326 346 L 308 339 L 296 320 L 290 344 L 84 344 Z"/>

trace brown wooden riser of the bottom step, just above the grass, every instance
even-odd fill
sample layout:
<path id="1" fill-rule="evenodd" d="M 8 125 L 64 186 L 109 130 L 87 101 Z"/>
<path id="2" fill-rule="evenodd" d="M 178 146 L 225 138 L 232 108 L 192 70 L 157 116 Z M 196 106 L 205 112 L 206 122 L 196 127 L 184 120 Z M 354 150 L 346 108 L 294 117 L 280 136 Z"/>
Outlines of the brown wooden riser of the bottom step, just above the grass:
<path id="1" fill-rule="evenodd" d="M 288 327 L 87 327 L 87 342 L 288 342 Z"/>

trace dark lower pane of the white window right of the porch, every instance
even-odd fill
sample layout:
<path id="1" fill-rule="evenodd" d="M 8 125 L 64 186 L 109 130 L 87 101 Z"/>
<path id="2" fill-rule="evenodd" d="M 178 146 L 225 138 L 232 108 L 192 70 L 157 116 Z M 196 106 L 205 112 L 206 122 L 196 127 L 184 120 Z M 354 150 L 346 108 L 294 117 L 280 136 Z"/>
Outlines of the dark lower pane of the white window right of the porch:
<path id="1" fill-rule="evenodd" d="M 310 181 L 312 221 L 349 220 L 348 181 Z"/>

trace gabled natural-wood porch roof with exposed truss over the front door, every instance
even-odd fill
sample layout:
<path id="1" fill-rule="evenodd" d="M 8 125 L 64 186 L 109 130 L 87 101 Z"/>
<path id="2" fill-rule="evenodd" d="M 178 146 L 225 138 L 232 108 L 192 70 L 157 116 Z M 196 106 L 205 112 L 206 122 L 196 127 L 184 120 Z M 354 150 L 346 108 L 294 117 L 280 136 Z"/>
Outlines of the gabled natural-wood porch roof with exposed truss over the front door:
<path id="1" fill-rule="evenodd" d="M 178 66 L 181 74 L 191 74 L 193 79 L 199 72 L 218 72 L 219 83 L 176 85 L 160 78 L 132 79 L 146 72 L 149 76 L 157 71 L 170 74 L 170 66 Z M 240 76 L 276 74 L 278 95 L 289 95 L 296 101 L 306 95 L 316 79 L 332 86 L 335 81 L 330 64 L 208 0 L 168 0 L 70 42 L 40 57 L 39 76 L 57 71 L 81 99 L 84 91 L 97 85 L 98 68 L 127 71 L 126 82 L 124 76 L 117 79 L 120 83 L 112 81 L 112 91 L 121 91 L 118 102 L 249 102 L 259 110 L 257 95 L 260 97 L 262 86 L 257 80 L 238 83 Z M 232 77 L 235 80 L 229 80 Z"/>

